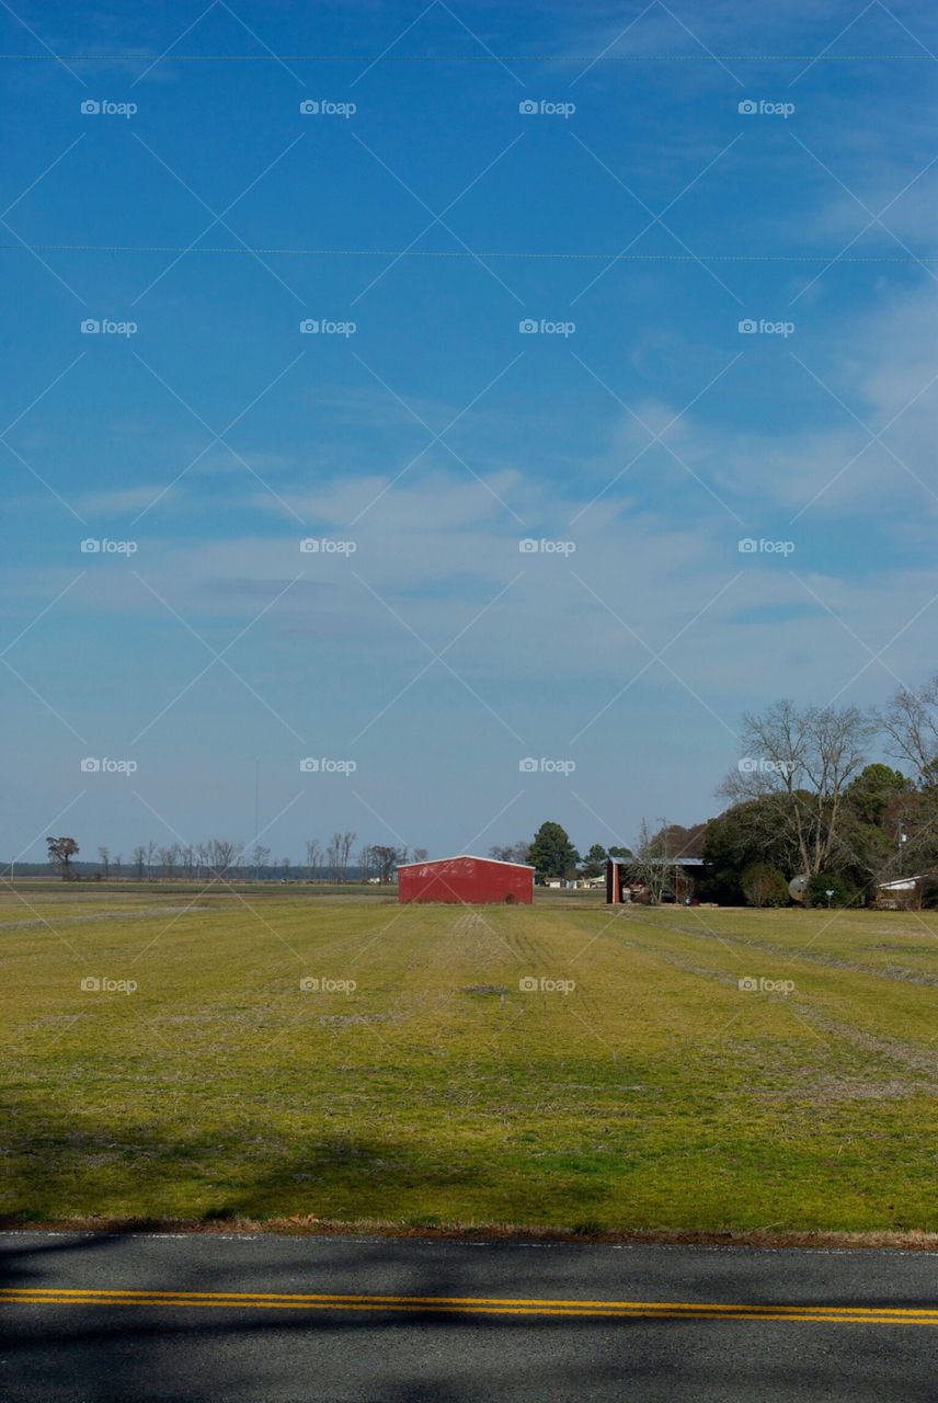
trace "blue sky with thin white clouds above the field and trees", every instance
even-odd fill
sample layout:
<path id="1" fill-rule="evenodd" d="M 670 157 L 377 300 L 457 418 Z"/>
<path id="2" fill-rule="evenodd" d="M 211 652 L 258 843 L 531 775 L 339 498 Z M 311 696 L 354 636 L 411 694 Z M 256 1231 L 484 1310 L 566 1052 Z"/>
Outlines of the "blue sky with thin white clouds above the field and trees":
<path id="1" fill-rule="evenodd" d="M 252 842 L 255 762 L 294 861 L 630 842 L 934 669 L 930 7 L 0 28 L 4 860 Z"/>

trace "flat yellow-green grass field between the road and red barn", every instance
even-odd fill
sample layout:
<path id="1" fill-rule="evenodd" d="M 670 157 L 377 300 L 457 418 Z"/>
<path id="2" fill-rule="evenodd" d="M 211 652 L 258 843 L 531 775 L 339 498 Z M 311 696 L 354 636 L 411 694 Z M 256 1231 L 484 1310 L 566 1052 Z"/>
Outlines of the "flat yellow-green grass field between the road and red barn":
<path id="1" fill-rule="evenodd" d="M 0 974 L 7 1218 L 938 1229 L 935 915 L 25 882 Z"/>

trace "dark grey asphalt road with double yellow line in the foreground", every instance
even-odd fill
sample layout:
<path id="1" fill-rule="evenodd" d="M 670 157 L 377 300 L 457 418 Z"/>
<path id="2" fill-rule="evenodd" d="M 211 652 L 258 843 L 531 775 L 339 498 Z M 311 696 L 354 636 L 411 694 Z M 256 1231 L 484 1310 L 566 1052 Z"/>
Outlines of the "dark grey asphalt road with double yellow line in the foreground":
<path id="1" fill-rule="evenodd" d="M 0 1399 L 935 1403 L 937 1287 L 927 1253 L 0 1233 Z"/>

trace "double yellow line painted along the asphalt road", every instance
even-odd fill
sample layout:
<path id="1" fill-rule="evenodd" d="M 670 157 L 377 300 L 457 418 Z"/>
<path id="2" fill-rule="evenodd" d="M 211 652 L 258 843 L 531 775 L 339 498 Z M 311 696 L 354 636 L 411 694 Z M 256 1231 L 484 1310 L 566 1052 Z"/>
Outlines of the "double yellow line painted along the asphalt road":
<path id="1" fill-rule="evenodd" d="M 301 1295 L 266 1291 L 0 1288 L 0 1305 L 163 1306 L 227 1310 L 367 1310 L 411 1315 L 565 1316 L 616 1320 L 787 1320 L 809 1324 L 931 1324 L 917 1306 L 709 1305 L 700 1301 L 554 1301 L 529 1296 Z"/>

